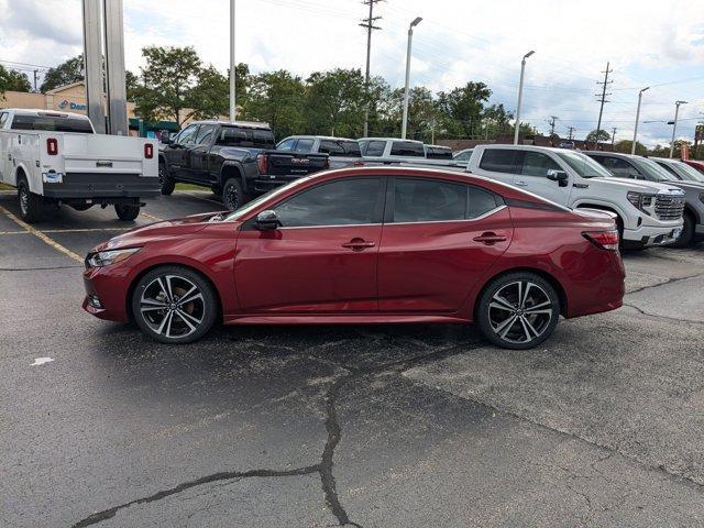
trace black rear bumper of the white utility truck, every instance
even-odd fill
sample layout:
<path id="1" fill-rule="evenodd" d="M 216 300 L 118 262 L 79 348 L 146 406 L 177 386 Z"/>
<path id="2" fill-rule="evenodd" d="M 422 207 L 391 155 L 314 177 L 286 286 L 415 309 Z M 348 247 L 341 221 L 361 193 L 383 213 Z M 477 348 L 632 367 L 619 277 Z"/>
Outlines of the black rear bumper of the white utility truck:
<path id="1" fill-rule="evenodd" d="M 54 178 L 55 179 L 55 178 Z M 43 195 L 55 199 L 147 198 L 160 194 L 157 177 L 139 174 L 67 173 L 61 182 L 43 184 Z"/>

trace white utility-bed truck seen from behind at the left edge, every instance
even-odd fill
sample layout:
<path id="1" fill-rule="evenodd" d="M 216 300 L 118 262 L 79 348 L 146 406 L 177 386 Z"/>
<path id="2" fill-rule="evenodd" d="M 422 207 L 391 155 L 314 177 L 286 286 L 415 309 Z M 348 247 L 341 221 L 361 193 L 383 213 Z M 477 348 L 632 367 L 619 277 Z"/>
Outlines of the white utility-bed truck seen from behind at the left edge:
<path id="1" fill-rule="evenodd" d="M 158 195 L 155 150 L 155 141 L 96 134 L 78 113 L 0 111 L 0 182 L 16 187 L 29 223 L 61 205 L 111 205 L 120 220 L 134 220 L 141 199 Z"/>

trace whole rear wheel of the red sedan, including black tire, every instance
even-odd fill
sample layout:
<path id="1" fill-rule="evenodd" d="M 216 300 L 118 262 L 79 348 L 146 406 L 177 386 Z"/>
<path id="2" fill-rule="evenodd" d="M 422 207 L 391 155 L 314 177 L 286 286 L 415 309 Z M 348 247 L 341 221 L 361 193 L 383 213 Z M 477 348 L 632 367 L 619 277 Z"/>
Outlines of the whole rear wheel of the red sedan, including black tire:
<path id="1" fill-rule="evenodd" d="M 554 287 L 535 273 L 508 273 L 484 287 L 474 319 L 492 343 L 504 349 L 532 349 L 558 324 L 560 298 Z"/>

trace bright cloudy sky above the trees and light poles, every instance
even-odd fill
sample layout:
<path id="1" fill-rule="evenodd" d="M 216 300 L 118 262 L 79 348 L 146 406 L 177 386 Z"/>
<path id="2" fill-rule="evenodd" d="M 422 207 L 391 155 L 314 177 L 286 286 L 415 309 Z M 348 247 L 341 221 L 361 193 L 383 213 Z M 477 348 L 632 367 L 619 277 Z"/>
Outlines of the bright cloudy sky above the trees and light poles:
<path id="1" fill-rule="evenodd" d="M 194 46 L 205 63 L 229 65 L 229 0 L 123 0 L 127 67 L 138 72 L 146 45 Z M 82 51 L 80 0 L 0 0 L 0 64 L 55 66 Z M 364 68 L 362 0 L 237 0 L 235 57 L 254 73 L 285 68 L 302 77 Z M 704 122 L 704 0 L 384 0 L 372 35 L 372 75 L 403 86 L 408 24 L 411 86 L 451 90 L 483 81 L 492 103 L 515 111 L 520 59 L 529 51 L 521 121 L 582 139 L 596 128 L 597 82 L 609 62 L 612 92 L 602 128 L 632 139 L 638 91 L 647 86 L 639 141 L 667 143 Z M 22 64 L 16 64 L 22 63 Z"/>

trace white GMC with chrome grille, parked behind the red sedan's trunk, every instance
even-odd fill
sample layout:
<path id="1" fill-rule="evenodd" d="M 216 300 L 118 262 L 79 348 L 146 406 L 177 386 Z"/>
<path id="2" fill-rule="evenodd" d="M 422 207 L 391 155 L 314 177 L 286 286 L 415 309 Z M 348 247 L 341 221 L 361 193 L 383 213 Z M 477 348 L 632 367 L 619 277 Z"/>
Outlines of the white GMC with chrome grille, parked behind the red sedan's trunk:
<path id="1" fill-rule="evenodd" d="M 582 153 L 531 145 L 479 145 L 468 172 L 570 208 L 612 211 L 624 248 L 668 244 L 682 232 L 684 193 L 673 185 L 614 178 Z"/>

